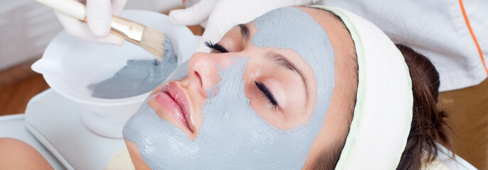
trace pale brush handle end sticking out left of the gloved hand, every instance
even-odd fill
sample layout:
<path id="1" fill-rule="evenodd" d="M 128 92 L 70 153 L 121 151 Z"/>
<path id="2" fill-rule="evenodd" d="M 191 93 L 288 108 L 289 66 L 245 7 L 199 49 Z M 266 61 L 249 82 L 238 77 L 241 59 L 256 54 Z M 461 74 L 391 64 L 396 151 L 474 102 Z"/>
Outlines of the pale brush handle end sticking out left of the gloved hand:
<path id="1" fill-rule="evenodd" d="M 39 3 L 53 8 L 55 11 L 73 16 L 83 21 L 86 17 L 86 7 L 75 0 L 35 0 Z"/>

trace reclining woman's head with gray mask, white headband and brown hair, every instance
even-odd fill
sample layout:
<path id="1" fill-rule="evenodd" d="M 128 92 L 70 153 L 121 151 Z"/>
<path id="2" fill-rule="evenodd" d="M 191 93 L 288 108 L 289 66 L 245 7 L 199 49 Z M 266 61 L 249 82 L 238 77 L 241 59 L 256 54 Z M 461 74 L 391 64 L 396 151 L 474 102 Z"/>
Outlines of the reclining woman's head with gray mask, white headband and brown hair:
<path id="1" fill-rule="evenodd" d="M 126 123 L 134 166 L 420 169 L 450 148 L 432 63 L 331 11 L 278 8 L 208 42 Z"/>

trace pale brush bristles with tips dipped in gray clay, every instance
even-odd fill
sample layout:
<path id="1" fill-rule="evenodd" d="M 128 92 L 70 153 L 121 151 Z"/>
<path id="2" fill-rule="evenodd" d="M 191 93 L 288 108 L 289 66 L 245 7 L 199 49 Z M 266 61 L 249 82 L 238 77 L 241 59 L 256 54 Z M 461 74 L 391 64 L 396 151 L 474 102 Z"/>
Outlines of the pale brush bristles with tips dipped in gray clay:
<path id="1" fill-rule="evenodd" d="M 167 42 L 164 33 L 146 26 L 142 33 L 142 40 L 139 42 L 139 46 L 148 52 L 151 52 L 151 54 L 157 57 L 157 60 L 161 61 L 164 55 L 166 55 L 166 46 L 164 43 Z M 172 45 L 170 45 L 170 47 L 171 46 Z"/>

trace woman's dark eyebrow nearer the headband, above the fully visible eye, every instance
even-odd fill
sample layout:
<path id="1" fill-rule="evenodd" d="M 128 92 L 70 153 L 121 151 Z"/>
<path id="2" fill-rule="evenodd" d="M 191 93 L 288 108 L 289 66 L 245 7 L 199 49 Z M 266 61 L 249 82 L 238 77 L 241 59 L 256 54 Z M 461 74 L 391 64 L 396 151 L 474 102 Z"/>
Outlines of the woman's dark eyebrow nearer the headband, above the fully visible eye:
<path id="1" fill-rule="evenodd" d="M 305 95 L 307 96 L 307 101 L 309 100 L 309 91 L 308 91 L 308 85 L 307 85 L 307 77 L 304 76 L 302 73 L 302 70 L 298 69 L 295 64 L 290 62 L 286 57 L 283 57 L 280 54 L 274 53 L 274 52 L 268 52 L 266 55 L 267 59 L 271 60 L 275 64 L 277 64 L 280 67 L 283 67 L 285 69 L 289 69 L 296 74 L 302 79 L 302 84 L 305 88 Z"/>

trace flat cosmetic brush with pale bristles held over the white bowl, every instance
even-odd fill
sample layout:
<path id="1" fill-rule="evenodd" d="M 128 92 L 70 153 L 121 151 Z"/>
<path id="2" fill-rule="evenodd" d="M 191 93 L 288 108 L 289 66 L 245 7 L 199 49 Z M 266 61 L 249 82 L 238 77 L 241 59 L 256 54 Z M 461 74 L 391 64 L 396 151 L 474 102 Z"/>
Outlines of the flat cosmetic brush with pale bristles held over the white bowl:
<path id="1" fill-rule="evenodd" d="M 35 0 L 39 3 L 53 8 L 55 11 L 64 13 L 68 16 L 78 18 L 80 21 L 86 21 L 86 7 L 75 0 Z M 112 16 L 110 23 L 110 33 L 124 38 L 129 42 L 139 45 L 147 50 L 152 55 L 155 55 L 157 60 L 161 62 L 161 59 L 166 55 L 170 48 L 173 48 L 171 40 L 169 40 L 164 33 L 159 30 L 150 28 L 130 21 L 125 18 Z"/>

